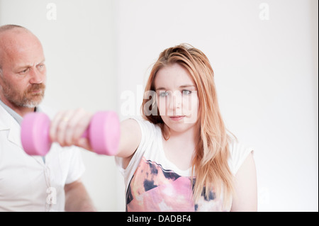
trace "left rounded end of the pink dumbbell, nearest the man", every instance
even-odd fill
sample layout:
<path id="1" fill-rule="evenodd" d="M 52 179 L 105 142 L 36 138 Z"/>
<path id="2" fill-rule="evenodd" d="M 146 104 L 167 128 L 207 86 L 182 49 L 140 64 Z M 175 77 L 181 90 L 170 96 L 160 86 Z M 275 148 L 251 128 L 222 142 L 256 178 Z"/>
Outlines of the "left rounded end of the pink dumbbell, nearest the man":
<path id="1" fill-rule="evenodd" d="M 21 123 L 21 143 L 27 154 L 45 156 L 52 142 L 50 118 L 45 113 L 29 113 Z"/>

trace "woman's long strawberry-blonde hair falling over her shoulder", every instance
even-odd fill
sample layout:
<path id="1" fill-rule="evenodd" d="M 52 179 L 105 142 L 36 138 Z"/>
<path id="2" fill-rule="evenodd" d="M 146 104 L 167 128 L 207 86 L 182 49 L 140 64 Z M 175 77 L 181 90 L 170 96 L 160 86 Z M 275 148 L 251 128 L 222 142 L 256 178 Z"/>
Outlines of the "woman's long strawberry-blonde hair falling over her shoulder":
<path id="1" fill-rule="evenodd" d="M 180 64 L 187 69 L 198 90 L 199 110 L 198 133 L 200 140 L 192 159 L 192 171 L 195 172 L 194 200 L 202 195 L 208 198 L 209 191 L 214 191 L 217 197 L 223 195 L 224 206 L 231 204 L 234 191 L 233 174 L 228 166 L 229 149 L 228 135 L 218 106 L 214 73 L 206 55 L 191 45 L 177 45 L 164 50 L 155 62 L 150 77 L 145 86 L 145 92 L 155 91 L 155 76 L 159 69 L 171 64 Z M 154 101 L 156 98 L 152 98 Z M 149 98 L 142 102 L 142 116 L 154 124 L 159 124 L 163 131 L 164 122 L 157 114 L 145 114 L 145 106 Z M 156 101 L 152 108 L 157 108 Z M 147 109 L 150 110 L 150 109 Z M 193 176 L 192 176 L 193 178 Z M 192 179 L 193 183 L 193 179 Z M 203 188 L 206 190 L 203 191 Z"/>

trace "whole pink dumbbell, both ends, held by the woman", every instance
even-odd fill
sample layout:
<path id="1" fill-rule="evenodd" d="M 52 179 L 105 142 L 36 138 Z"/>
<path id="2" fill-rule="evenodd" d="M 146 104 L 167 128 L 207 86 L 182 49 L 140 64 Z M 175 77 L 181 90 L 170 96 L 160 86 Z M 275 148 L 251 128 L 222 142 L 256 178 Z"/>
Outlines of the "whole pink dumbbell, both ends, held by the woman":
<path id="1" fill-rule="evenodd" d="M 49 152 L 50 118 L 45 113 L 29 113 L 21 123 L 21 142 L 27 154 L 45 156 Z M 97 154 L 115 155 L 120 141 L 120 122 L 113 111 L 100 111 L 93 115 L 82 137 L 89 139 Z"/>

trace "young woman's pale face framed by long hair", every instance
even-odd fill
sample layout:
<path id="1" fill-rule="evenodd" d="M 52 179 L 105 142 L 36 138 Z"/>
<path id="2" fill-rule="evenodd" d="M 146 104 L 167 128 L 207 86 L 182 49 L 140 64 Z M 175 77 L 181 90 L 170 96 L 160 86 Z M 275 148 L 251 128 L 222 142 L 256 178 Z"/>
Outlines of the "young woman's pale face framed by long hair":
<path id="1" fill-rule="evenodd" d="M 196 125 L 199 101 L 196 84 L 180 64 L 159 69 L 155 76 L 157 107 L 171 132 L 185 132 Z"/>

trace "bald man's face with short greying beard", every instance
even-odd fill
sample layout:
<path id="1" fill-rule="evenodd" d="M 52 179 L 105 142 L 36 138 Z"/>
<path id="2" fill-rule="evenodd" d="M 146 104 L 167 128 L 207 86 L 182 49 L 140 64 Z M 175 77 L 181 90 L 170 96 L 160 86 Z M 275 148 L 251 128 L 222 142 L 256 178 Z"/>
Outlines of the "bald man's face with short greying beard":
<path id="1" fill-rule="evenodd" d="M 34 108 L 45 94 L 43 47 L 27 31 L 0 34 L 0 98 L 13 108 Z"/>

